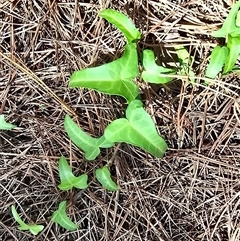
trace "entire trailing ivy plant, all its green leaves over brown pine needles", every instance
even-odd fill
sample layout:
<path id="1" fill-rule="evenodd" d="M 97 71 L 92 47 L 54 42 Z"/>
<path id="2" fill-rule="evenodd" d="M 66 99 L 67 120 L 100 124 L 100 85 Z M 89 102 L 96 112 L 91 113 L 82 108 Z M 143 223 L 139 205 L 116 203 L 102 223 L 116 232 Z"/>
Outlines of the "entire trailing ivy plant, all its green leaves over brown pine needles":
<path id="1" fill-rule="evenodd" d="M 223 69 L 223 73 L 233 70 L 240 53 L 240 1 L 237 2 L 222 28 L 212 34 L 214 37 L 226 38 L 226 46 L 216 46 L 211 54 L 210 63 L 206 71 L 206 77 L 215 78 Z M 94 89 L 109 95 L 119 95 L 126 99 L 128 106 L 125 117 L 113 120 L 99 138 L 91 137 L 84 132 L 69 115 L 65 116 L 64 128 L 74 144 L 85 153 L 89 161 L 95 160 L 100 154 L 100 148 L 110 148 L 116 142 L 125 142 L 144 149 L 155 157 L 161 158 L 167 150 L 165 140 L 158 134 L 151 116 L 143 108 L 140 91 L 134 78 L 139 74 L 137 41 L 141 33 L 124 14 L 106 9 L 99 16 L 114 24 L 125 36 L 126 46 L 124 54 L 119 59 L 102 66 L 87 68 L 72 74 L 70 87 L 83 87 Z M 149 83 L 166 84 L 173 80 L 172 75 L 184 74 L 189 76 L 191 82 L 195 81 L 195 75 L 190 63 L 193 58 L 183 46 L 175 46 L 180 67 L 166 68 L 155 62 L 152 50 L 143 50 L 141 77 Z M 168 76 L 169 75 L 169 76 Z M 0 115 L 0 130 L 11 130 L 15 125 L 7 123 L 4 115 Z M 73 187 L 85 189 L 88 187 L 88 176 L 82 174 L 76 177 L 66 158 L 59 159 L 59 176 L 61 183 L 59 189 L 71 190 Z M 96 179 L 108 191 L 117 191 L 120 187 L 111 177 L 108 165 L 95 170 Z M 61 227 L 74 231 L 78 225 L 72 222 L 66 212 L 67 201 L 62 201 L 58 209 L 52 214 L 51 220 Z M 15 206 L 11 207 L 14 219 L 19 223 L 20 230 L 29 230 L 37 235 L 44 229 L 43 225 L 26 224 L 19 216 Z"/>

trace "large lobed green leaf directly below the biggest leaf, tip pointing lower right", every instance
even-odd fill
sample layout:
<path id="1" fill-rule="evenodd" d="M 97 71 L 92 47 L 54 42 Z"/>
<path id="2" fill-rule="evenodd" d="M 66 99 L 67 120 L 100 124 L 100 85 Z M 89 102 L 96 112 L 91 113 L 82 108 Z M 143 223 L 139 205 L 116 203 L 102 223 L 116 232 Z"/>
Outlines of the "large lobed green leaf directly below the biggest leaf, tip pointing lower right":
<path id="1" fill-rule="evenodd" d="M 158 135 L 150 115 L 141 107 L 141 101 L 134 100 L 130 103 L 126 117 L 114 120 L 106 127 L 106 139 L 111 142 L 126 142 L 156 157 L 162 157 L 167 150 L 167 144 Z"/>

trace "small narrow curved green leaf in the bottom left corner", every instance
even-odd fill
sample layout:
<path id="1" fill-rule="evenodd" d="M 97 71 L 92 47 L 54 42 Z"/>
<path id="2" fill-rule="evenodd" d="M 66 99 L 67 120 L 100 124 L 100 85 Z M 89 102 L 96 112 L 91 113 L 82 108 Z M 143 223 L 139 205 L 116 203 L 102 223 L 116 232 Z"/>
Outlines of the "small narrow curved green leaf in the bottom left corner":
<path id="1" fill-rule="evenodd" d="M 38 235 L 39 232 L 41 232 L 44 229 L 43 225 L 38 225 L 38 224 L 26 224 L 18 215 L 17 210 L 14 205 L 11 206 L 11 211 L 14 219 L 16 222 L 20 225 L 18 227 L 19 230 L 22 231 L 30 231 L 33 235 Z"/>

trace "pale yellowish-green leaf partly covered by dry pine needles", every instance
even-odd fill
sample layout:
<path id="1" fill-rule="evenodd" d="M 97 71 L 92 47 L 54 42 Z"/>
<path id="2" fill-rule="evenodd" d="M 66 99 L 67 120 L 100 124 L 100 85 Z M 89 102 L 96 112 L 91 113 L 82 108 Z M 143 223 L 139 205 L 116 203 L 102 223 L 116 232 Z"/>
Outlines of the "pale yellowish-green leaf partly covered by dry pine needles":
<path id="1" fill-rule="evenodd" d="M 176 54 L 180 62 L 180 75 L 187 75 L 191 82 L 195 82 L 195 74 L 192 70 L 192 57 L 183 46 L 174 46 Z"/>

